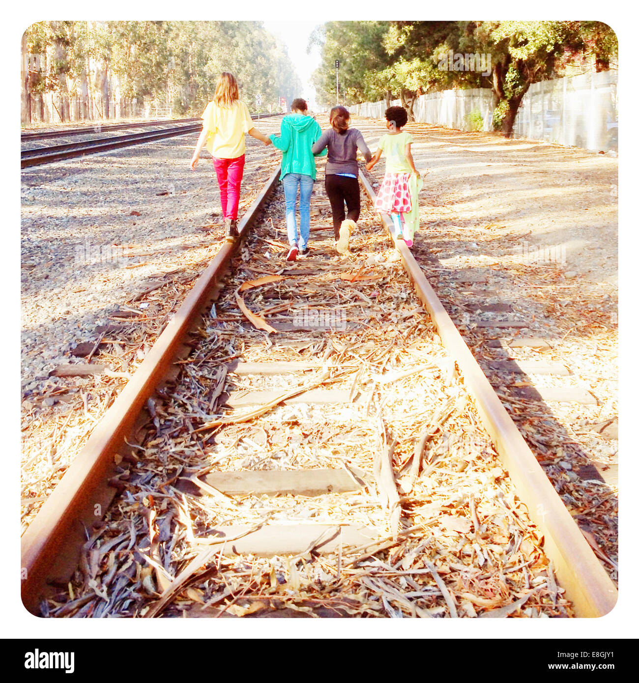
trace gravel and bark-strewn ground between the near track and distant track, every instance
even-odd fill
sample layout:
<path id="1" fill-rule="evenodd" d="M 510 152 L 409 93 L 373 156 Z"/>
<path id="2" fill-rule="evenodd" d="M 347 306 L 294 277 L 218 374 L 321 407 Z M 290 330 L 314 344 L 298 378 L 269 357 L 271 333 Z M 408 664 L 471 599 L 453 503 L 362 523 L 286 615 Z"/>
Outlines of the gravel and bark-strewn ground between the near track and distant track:
<path id="1" fill-rule="evenodd" d="M 270 121 L 261 125 L 279 129 Z M 211 224 L 211 211 L 219 214 L 213 167 L 203 161 L 194 176 L 184 145 L 172 138 L 21 173 L 23 529 L 223 238 L 221 219 Z M 257 141 L 247 147 L 241 209 L 280 161 Z M 105 195 L 110 185 L 118 192 Z M 142 216 L 131 217 L 132 209 Z M 200 223 L 213 229 L 203 236 Z M 119 250 L 121 258 L 92 256 L 78 266 L 77 247 L 85 245 Z M 102 331 L 90 365 L 105 372 L 51 374 L 87 363 Z M 83 342 L 90 348 L 72 358 Z"/>

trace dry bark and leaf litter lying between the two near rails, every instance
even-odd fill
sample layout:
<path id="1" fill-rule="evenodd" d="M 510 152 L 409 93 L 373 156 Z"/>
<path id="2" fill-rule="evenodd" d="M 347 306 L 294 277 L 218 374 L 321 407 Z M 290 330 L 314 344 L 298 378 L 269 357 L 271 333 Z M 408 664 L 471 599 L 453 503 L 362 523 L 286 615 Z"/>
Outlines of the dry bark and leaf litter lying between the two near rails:
<path id="1" fill-rule="evenodd" d="M 191 362 L 182 364 L 176 386 L 154 399 L 156 417 L 137 448 L 139 460 L 105 524 L 87 542 L 83 569 L 44 613 L 249 617 L 285 609 L 309 617 L 475 617 L 502 610 L 513 617 L 571 616 L 539 531 L 517 501 L 406 275 L 389 259 L 392 250 L 370 207 L 352 240 L 352 260 L 334 255 L 329 236 L 312 242 L 313 260 L 293 266 L 284 262 L 286 245 L 273 245 L 269 217 L 284 225 L 281 193 L 236 258 L 228 287 L 203 320 Z M 377 279 L 330 277 L 358 273 L 362 260 L 370 260 Z M 286 277 L 245 288 L 245 304 L 280 326 L 277 334 L 256 329 L 236 307 L 235 292 L 262 275 Z M 286 328 L 300 299 L 310 309 L 344 311 L 342 322 L 357 328 Z M 284 393 L 317 380 L 357 400 L 278 405 L 247 423 L 201 430 L 236 415 L 216 392 L 221 363 L 238 358 L 321 365 L 285 376 L 238 376 L 229 366 L 226 393 Z M 420 372 L 405 372 L 416 367 Z M 390 484 L 410 467 L 425 431 L 429 438 L 417 456 L 421 475 L 410 494 L 395 488 L 399 505 L 387 510 L 374 475 L 379 438 L 392 439 L 385 455 Z M 363 473 L 366 488 L 312 498 L 178 488 L 178 479 L 202 481 L 208 471 L 335 466 Z M 228 544 L 210 546 L 214 528 L 278 522 L 361 523 L 379 539 L 297 557 L 234 557 Z"/>

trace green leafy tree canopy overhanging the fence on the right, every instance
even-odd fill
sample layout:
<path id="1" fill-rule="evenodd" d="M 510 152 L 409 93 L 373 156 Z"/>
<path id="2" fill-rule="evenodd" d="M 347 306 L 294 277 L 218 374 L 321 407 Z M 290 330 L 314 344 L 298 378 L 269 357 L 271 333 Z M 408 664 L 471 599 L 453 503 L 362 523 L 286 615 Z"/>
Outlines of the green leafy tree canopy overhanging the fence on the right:
<path id="1" fill-rule="evenodd" d="M 413 120 L 421 94 L 489 87 L 497 99 L 493 125 L 507 135 L 532 83 L 608 69 L 618 50 L 614 31 L 597 21 L 329 22 L 312 42 L 321 46 L 314 85 L 322 104 L 336 101 L 340 59 L 346 104 L 400 98 Z M 468 68 L 468 57 L 470 64 L 481 57 L 481 68 Z"/>

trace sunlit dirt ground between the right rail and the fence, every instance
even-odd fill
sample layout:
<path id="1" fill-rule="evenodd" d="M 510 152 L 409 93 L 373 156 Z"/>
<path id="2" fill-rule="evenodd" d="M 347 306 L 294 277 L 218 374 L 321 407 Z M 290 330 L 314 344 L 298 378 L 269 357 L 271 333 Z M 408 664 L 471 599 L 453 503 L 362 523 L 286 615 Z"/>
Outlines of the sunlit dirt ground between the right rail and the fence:
<path id="1" fill-rule="evenodd" d="M 371 120 L 355 125 L 365 137 L 372 130 L 383 133 Z M 428 174 L 420 193 L 420 232 L 411 251 L 616 581 L 618 489 L 613 480 L 601 481 L 597 469 L 606 475 L 617 466 L 618 441 L 616 434 L 594 428 L 618 415 L 617 199 L 608 192 L 616 188 L 616 162 L 582 150 L 491 140 L 484 133 L 427 124 L 409 128 L 416 164 Z M 510 147 L 519 144 L 515 162 Z M 450 182 L 448 168 L 469 163 L 473 171 L 465 182 Z M 477 165 L 482 173 L 475 173 Z M 490 177 L 496 167 L 498 179 Z M 539 198 L 534 210 L 521 194 L 521 174 Z M 380 166 L 370 174 L 373 182 L 382 175 Z M 565 201 L 557 197 L 567 192 L 571 201 L 564 210 Z M 532 214 L 538 219 L 533 223 Z M 560 245 L 550 245 L 551 257 L 545 260 L 534 257 L 553 235 L 567 245 L 567 263 L 558 258 Z M 524 327 L 481 326 L 504 320 Z M 541 337 L 548 346 L 508 348 L 507 342 L 518 337 Z M 570 376 L 514 376 L 487 365 L 507 358 L 561 363 Z M 597 404 L 531 402 L 511 390 L 575 385 L 595 396 Z"/>

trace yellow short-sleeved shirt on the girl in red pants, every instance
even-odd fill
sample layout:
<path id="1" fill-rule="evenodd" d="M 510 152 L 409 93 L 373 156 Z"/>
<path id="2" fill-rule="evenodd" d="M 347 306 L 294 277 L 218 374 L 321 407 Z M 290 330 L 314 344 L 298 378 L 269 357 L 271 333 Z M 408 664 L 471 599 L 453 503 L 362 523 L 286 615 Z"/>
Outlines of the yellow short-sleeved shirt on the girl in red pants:
<path id="1" fill-rule="evenodd" d="M 244 134 L 253 128 L 249 108 L 236 100 L 230 107 L 218 107 L 208 102 L 204 113 L 204 128 L 208 130 L 206 149 L 219 159 L 236 159 L 244 154 Z"/>

